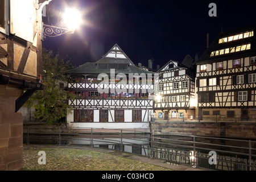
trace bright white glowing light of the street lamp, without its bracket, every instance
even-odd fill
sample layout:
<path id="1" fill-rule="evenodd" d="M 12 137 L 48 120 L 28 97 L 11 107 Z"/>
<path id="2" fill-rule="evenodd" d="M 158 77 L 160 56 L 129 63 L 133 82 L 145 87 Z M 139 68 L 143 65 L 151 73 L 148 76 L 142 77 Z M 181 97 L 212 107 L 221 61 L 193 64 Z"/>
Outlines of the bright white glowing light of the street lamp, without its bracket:
<path id="1" fill-rule="evenodd" d="M 68 28 L 75 30 L 81 23 L 80 11 L 67 8 L 65 14 L 63 15 L 63 20 Z"/>

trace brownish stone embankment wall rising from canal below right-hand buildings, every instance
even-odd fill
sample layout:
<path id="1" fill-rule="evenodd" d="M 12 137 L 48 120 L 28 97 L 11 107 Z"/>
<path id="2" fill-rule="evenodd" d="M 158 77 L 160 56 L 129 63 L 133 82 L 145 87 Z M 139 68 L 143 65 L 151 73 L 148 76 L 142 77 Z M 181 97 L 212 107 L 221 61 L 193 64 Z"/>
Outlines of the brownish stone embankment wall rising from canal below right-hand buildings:
<path id="1" fill-rule="evenodd" d="M 226 137 L 256 140 L 256 123 L 229 122 L 155 122 L 151 131 L 205 137 Z"/>

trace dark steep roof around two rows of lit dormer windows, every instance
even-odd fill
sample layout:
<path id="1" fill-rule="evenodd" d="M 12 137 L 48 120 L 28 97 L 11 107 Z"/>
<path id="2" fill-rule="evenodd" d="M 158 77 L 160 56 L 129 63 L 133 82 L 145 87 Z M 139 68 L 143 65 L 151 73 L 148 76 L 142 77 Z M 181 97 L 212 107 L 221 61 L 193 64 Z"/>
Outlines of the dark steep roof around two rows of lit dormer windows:
<path id="1" fill-rule="evenodd" d="M 199 60 L 196 61 L 196 63 L 204 62 L 204 61 L 211 61 L 211 60 L 224 60 L 229 57 L 232 59 L 232 57 L 238 57 L 238 56 L 245 56 L 245 55 L 252 55 L 256 53 L 256 35 L 250 36 L 248 38 L 233 40 L 231 42 L 225 42 L 225 43 L 219 43 L 219 40 L 222 38 L 227 38 L 229 36 L 238 35 L 241 33 L 245 33 L 248 31 L 254 31 L 254 34 L 256 33 L 256 24 L 253 26 L 238 28 L 236 30 L 221 32 L 216 39 L 213 41 L 212 44 L 207 48 L 207 50 L 203 53 L 203 55 L 200 57 Z M 210 56 L 212 52 L 218 51 L 221 49 L 226 48 L 232 48 L 236 46 L 241 46 L 244 44 L 250 43 L 250 49 L 246 49 L 245 51 L 240 52 L 232 52 L 232 53 L 224 53 L 223 55 L 218 56 Z"/>

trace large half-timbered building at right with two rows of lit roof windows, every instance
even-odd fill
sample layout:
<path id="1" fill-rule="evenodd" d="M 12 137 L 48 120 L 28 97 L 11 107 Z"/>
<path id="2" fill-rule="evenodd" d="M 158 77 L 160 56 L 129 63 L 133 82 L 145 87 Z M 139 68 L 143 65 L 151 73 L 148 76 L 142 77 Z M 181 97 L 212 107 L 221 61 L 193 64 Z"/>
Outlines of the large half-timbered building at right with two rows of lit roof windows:
<path id="1" fill-rule="evenodd" d="M 203 118 L 256 114 L 255 28 L 221 32 L 196 62 L 198 114 Z"/>

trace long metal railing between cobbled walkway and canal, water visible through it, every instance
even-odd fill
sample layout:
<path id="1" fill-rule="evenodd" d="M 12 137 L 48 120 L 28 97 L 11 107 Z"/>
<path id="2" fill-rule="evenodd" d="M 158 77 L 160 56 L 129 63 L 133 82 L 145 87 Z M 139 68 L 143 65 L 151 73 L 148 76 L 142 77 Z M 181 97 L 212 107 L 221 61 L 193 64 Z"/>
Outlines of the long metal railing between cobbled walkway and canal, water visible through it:
<path id="1" fill-rule="evenodd" d="M 252 171 L 256 167 L 256 141 L 251 140 L 118 129 L 33 130 L 24 127 L 24 143 L 104 147 L 161 159 L 170 164 L 213 170 Z M 216 155 L 210 155 L 210 152 L 216 152 Z"/>

